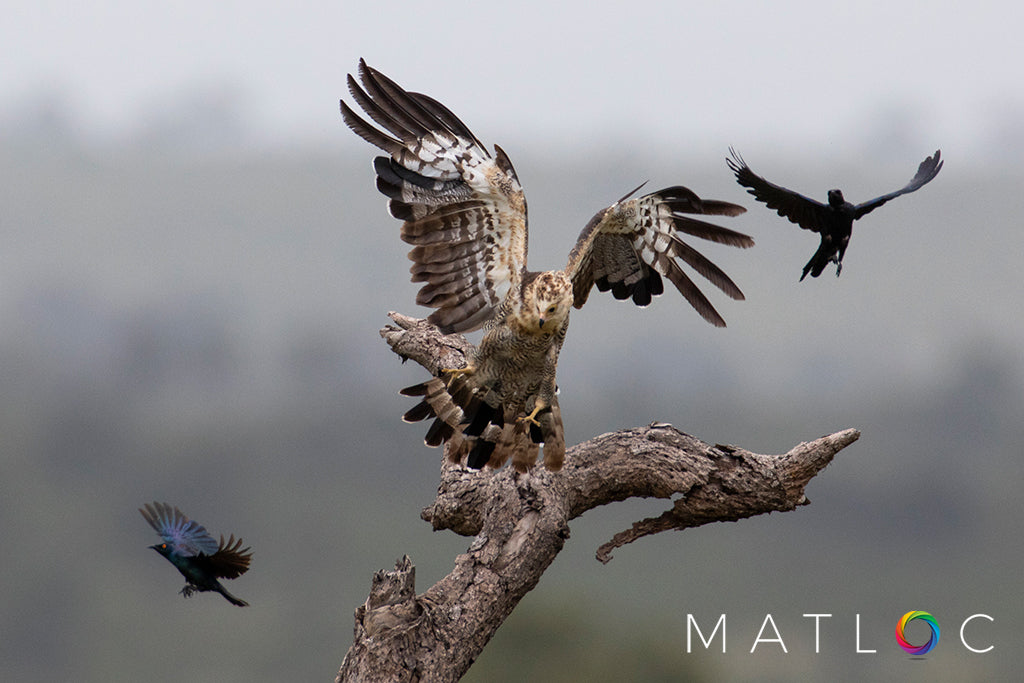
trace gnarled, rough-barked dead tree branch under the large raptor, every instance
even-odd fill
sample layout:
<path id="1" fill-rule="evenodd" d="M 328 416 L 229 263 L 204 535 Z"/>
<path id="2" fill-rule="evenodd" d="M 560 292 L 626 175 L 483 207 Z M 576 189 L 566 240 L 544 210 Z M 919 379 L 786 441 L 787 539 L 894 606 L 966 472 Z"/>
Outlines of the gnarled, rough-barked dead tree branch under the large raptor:
<path id="1" fill-rule="evenodd" d="M 402 359 L 431 373 L 465 364 L 472 345 L 432 325 L 389 313 L 397 327 L 381 336 Z M 568 522 L 600 505 L 633 497 L 672 498 L 662 515 L 616 533 L 597 550 L 641 537 L 715 521 L 734 521 L 807 505 L 804 487 L 860 433 L 847 429 L 764 456 L 711 445 L 669 424 L 602 434 L 566 452 L 565 466 L 478 472 L 442 459 L 434 503 L 421 516 L 434 529 L 475 537 L 452 572 L 416 594 L 409 557 L 378 571 L 370 597 L 355 610 L 355 642 L 338 681 L 456 681 L 519 600 L 541 579 L 569 535 Z"/>

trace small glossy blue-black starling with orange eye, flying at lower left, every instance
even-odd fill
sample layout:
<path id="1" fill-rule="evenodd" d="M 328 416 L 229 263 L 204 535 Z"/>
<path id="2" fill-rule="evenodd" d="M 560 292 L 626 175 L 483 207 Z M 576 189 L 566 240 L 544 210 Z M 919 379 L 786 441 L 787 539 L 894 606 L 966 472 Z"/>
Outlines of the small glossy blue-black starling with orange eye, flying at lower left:
<path id="1" fill-rule="evenodd" d="M 218 579 L 238 579 L 249 570 L 252 553 L 242 548 L 242 539 L 232 533 L 227 542 L 220 537 L 218 544 L 206 528 L 167 503 L 146 503 L 138 511 L 161 536 L 162 542 L 150 546 L 166 557 L 185 578 L 181 595 L 186 598 L 199 591 L 216 591 L 232 605 L 248 607 L 249 603 L 228 593 Z"/>

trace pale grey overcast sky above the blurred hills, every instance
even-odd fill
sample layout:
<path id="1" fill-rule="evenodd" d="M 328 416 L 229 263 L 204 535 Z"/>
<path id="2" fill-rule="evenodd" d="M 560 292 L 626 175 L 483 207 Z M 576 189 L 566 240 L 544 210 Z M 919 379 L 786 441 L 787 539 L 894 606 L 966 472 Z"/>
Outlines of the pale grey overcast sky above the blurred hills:
<path id="1" fill-rule="evenodd" d="M 336 140 L 360 56 L 487 141 L 622 126 L 716 154 L 724 141 L 827 157 L 890 135 L 914 156 L 967 158 L 1024 112 L 1011 2 L 19 5 L 0 24 L 4 108 L 48 90 L 85 132 L 114 136 L 189 89 L 225 88 L 259 141 Z"/>

